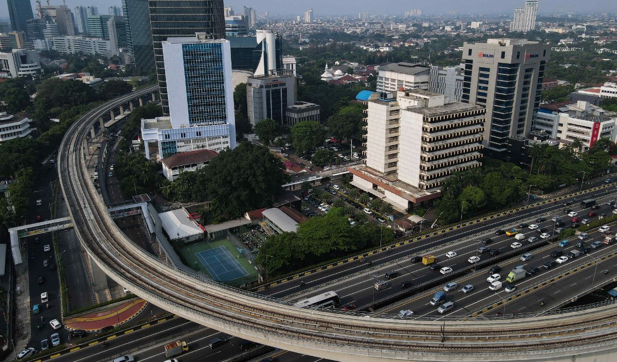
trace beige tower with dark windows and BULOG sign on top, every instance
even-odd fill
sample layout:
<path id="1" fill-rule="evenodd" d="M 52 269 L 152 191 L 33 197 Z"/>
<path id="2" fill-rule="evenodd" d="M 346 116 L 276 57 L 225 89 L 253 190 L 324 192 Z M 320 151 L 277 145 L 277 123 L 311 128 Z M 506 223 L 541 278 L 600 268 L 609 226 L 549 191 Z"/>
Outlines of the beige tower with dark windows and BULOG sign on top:
<path id="1" fill-rule="evenodd" d="M 488 39 L 463 44 L 462 102 L 486 107 L 484 145 L 503 155 L 508 137 L 527 135 L 537 118 L 550 44 Z"/>

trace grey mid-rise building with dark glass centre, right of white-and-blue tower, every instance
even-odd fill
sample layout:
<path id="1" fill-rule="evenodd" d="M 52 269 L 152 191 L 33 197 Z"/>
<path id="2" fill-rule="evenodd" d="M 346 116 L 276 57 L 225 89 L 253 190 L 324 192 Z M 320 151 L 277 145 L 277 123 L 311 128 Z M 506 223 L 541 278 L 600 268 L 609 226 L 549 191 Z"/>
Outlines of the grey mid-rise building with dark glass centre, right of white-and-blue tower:
<path id="1" fill-rule="evenodd" d="M 253 126 L 266 118 L 283 124 L 287 107 L 296 103 L 296 77 L 289 70 L 251 76 L 246 81 L 246 99 Z"/>

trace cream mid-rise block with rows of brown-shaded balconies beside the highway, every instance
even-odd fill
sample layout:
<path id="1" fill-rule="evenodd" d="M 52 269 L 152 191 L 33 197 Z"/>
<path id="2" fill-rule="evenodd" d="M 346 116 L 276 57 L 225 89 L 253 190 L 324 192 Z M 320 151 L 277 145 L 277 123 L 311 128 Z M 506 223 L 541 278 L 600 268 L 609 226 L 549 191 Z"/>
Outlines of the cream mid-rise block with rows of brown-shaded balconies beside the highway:
<path id="1" fill-rule="evenodd" d="M 352 184 L 406 210 L 439 197 L 454 172 L 481 166 L 485 110 L 421 89 L 370 94 L 365 166 Z"/>

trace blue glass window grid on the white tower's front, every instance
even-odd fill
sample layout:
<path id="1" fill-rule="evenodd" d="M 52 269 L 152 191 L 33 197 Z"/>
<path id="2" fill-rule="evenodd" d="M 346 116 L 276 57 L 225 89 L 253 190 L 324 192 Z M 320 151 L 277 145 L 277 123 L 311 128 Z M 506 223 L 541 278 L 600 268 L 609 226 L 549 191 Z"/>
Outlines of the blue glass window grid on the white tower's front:
<path id="1" fill-rule="evenodd" d="M 221 44 L 183 44 L 182 53 L 189 124 L 225 124 L 225 72 Z"/>

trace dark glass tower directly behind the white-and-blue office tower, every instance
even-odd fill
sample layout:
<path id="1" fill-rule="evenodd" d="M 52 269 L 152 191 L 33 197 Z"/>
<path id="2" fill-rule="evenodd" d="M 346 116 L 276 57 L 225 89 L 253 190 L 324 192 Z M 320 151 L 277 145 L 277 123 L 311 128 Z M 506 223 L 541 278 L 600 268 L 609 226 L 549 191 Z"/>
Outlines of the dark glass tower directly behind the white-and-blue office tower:
<path id="1" fill-rule="evenodd" d="M 210 39 L 225 38 L 223 0 L 148 0 L 154 63 L 159 80 L 163 112 L 169 114 L 167 82 L 162 42 L 167 38 L 205 34 Z"/>

